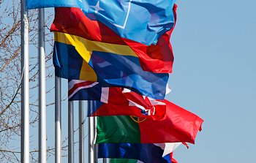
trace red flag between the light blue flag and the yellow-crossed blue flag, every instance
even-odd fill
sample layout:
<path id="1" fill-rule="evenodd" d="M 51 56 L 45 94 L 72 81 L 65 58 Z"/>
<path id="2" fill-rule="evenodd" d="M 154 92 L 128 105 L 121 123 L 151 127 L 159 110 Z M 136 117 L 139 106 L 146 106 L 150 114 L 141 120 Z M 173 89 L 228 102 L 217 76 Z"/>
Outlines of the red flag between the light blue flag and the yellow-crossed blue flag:
<path id="1" fill-rule="evenodd" d="M 173 13 L 176 18 L 176 5 L 173 7 Z M 170 34 L 173 28 L 159 38 L 157 45 L 147 46 L 119 37 L 108 26 L 87 18 L 78 8 L 59 7 L 56 8 L 55 19 L 50 30 L 72 34 L 97 42 L 105 42 L 114 45 L 113 48 L 116 45 L 127 45 L 135 52 L 133 55 L 138 57 L 143 70 L 170 73 L 173 68 L 173 49 L 170 45 Z"/>

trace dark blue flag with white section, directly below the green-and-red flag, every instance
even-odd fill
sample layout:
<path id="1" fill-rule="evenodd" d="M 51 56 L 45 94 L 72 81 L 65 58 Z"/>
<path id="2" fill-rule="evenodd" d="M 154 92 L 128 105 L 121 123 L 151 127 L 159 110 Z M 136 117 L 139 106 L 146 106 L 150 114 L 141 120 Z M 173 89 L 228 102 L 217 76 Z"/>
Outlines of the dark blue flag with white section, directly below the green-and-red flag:
<path id="1" fill-rule="evenodd" d="M 137 159 L 141 162 L 164 163 L 181 143 L 102 143 L 98 144 L 98 158 Z"/>

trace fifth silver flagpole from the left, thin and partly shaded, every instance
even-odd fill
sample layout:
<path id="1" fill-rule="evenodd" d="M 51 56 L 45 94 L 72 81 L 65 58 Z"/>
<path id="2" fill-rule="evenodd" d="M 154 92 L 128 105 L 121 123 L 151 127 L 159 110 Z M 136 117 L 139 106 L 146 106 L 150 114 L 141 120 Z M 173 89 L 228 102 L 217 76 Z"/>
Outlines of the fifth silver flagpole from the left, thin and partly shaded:
<path id="1" fill-rule="evenodd" d="M 79 101 L 79 162 L 84 163 L 83 101 Z"/>

